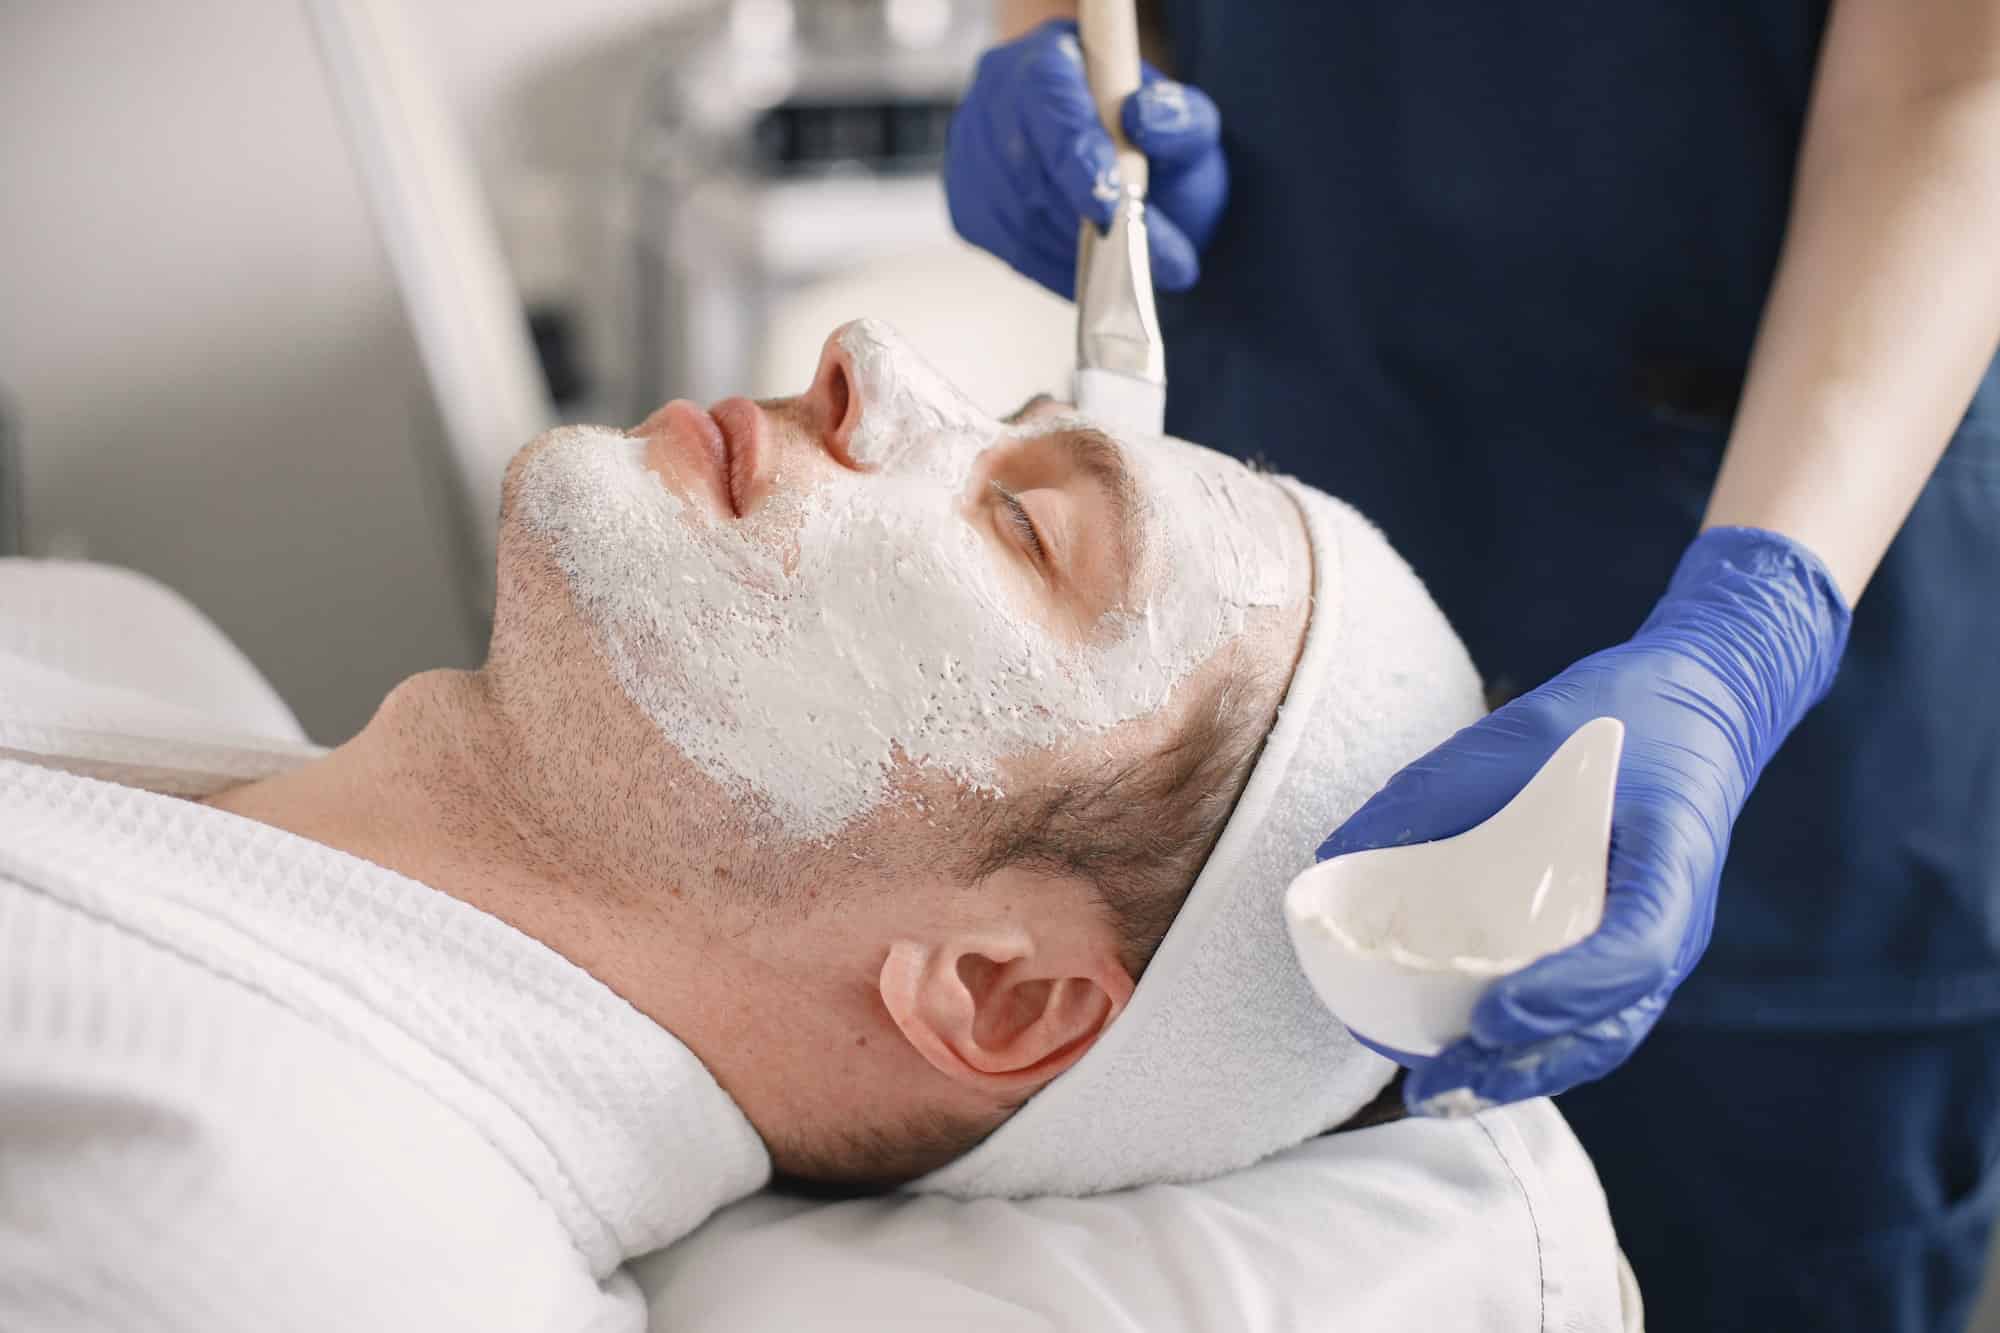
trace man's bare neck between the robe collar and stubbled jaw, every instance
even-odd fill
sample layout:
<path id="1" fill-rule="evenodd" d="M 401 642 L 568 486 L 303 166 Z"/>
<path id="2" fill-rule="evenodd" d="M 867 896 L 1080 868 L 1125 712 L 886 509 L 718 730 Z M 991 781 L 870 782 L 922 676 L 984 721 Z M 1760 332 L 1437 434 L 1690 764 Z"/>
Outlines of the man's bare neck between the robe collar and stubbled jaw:
<path id="1" fill-rule="evenodd" d="M 478 673 L 438 671 L 396 687 L 324 759 L 206 805 L 372 861 L 538 939 L 678 1037 L 766 1137 L 828 1107 L 858 1117 L 906 1081 L 904 1043 L 850 1045 L 856 1033 L 894 1037 L 878 1005 L 854 999 L 870 993 L 854 983 L 880 961 L 840 981 L 824 931 L 790 933 L 732 909 L 732 895 L 754 903 L 748 885 L 714 893 L 674 879 L 662 871 L 670 849 L 648 849 L 644 875 L 622 871 L 632 857 L 602 855 L 588 837 L 604 827 L 602 809 L 570 811 L 532 787 L 534 759 Z M 836 1085 L 828 1043 L 850 1049 Z"/>

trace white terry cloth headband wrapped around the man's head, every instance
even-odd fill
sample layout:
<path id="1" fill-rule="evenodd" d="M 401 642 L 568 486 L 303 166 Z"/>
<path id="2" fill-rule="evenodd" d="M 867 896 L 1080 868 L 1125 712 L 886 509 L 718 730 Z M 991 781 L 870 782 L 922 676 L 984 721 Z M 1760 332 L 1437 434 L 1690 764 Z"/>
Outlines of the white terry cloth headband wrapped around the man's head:
<path id="1" fill-rule="evenodd" d="M 1110 1031 L 912 1189 L 970 1199 L 1200 1181 L 1332 1129 L 1394 1075 L 1298 969 L 1284 891 L 1362 801 L 1486 709 L 1464 644 L 1388 540 L 1348 504 L 1278 484 L 1312 542 L 1312 618 L 1236 811 Z"/>

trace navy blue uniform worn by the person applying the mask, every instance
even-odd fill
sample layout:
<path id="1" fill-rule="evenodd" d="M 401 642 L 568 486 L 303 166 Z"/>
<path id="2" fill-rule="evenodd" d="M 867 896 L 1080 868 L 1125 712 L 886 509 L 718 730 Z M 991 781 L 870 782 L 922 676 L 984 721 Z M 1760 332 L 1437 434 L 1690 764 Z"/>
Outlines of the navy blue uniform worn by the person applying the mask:
<path id="1" fill-rule="evenodd" d="M 1168 428 L 1354 500 L 1528 689 L 1694 536 L 1826 4 L 1166 0 L 1230 208 Z M 1884 442 L 1884 448 L 1894 448 Z M 1950 1329 L 2000 1131 L 2000 374 L 1736 825 L 1656 1035 L 1564 1097 L 1656 1329 Z"/>

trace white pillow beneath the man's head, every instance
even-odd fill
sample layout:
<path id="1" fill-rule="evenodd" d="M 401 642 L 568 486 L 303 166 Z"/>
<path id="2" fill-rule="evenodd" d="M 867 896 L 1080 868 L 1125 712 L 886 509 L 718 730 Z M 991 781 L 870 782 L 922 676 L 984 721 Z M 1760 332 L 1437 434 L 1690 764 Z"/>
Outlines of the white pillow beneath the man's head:
<path id="1" fill-rule="evenodd" d="M 756 1195 L 632 1267 L 654 1333 L 1638 1327 L 1548 1101 L 1090 1199 Z"/>

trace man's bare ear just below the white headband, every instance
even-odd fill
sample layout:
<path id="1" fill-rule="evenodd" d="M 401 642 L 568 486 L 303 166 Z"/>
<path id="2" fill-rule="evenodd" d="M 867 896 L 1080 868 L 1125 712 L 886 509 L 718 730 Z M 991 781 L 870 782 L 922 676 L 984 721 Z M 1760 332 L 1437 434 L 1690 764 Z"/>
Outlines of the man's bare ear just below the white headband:
<path id="1" fill-rule="evenodd" d="M 1132 999 L 1116 937 L 1094 919 L 1082 929 L 1050 921 L 904 937 L 888 949 L 880 987 L 896 1027 L 932 1067 L 994 1095 L 1054 1079 Z"/>

